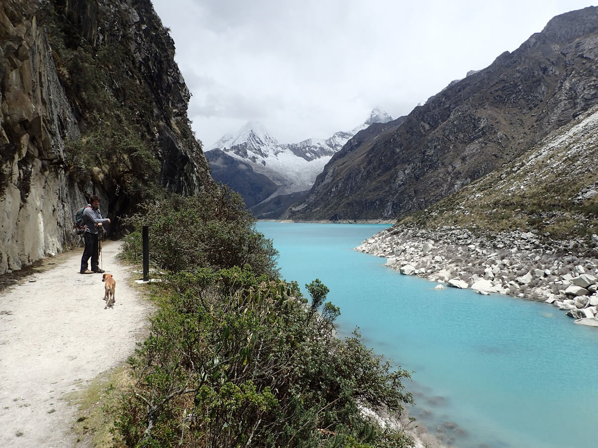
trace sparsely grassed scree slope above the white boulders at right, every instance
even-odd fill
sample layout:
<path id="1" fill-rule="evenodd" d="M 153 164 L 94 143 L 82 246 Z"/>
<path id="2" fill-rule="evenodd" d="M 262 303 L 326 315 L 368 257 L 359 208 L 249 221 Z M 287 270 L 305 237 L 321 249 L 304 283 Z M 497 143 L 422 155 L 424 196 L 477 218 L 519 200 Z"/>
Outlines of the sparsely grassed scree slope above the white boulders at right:
<path id="1" fill-rule="evenodd" d="M 593 108 L 521 157 L 399 223 L 490 235 L 533 231 L 551 246 L 577 239 L 591 248 L 591 235 L 598 234 L 597 129 Z"/>

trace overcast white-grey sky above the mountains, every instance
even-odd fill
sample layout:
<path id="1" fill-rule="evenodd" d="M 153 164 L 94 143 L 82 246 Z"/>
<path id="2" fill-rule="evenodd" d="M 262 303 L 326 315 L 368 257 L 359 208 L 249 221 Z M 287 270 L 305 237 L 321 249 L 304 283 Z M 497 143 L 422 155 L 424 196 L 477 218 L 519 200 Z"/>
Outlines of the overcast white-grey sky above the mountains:
<path id="1" fill-rule="evenodd" d="M 576 0 L 152 0 L 209 149 L 248 121 L 280 143 L 393 118 L 487 67 Z"/>

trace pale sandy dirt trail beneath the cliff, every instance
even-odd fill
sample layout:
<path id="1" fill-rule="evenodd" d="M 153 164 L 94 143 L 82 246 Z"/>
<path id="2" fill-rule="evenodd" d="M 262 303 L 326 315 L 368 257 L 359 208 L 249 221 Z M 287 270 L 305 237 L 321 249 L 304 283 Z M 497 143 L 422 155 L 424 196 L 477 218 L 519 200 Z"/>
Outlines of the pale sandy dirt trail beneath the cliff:
<path id="1" fill-rule="evenodd" d="M 141 276 L 118 262 L 118 246 L 102 245 L 103 269 L 117 281 L 112 309 L 102 276 L 78 273 L 83 248 L 0 291 L 0 446 L 74 446 L 77 409 L 65 395 L 133 353 L 150 305 L 128 285 Z"/>

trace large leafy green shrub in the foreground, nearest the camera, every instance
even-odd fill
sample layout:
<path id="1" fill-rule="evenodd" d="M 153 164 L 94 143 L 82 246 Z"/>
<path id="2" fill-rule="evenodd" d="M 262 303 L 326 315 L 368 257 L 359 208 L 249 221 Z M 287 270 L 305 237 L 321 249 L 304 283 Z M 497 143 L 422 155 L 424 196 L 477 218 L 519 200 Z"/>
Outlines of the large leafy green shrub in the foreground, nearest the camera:
<path id="1" fill-rule="evenodd" d="M 322 303 L 327 289 L 311 285 Z M 357 331 L 332 337 L 337 308 L 312 314 L 296 283 L 249 266 L 181 272 L 164 287 L 170 306 L 130 359 L 138 382 L 116 423 L 126 446 L 412 446 L 359 412 L 401 412 L 408 373 Z"/>

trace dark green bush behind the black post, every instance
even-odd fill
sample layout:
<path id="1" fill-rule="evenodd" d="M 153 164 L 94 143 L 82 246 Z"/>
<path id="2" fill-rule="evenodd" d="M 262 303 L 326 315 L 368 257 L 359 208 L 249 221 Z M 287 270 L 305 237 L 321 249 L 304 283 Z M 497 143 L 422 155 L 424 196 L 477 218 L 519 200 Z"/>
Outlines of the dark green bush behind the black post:
<path id="1" fill-rule="evenodd" d="M 170 272 L 251 265 L 258 274 L 278 275 L 277 251 L 255 231 L 255 217 L 228 186 L 206 189 L 199 197 L 145 205 L 127 222 L 139 231 L 149 225 L 149 257 Z M 141 234 L 132 234 L 130 239 Z M 133 244 L 133 243 L 131 243 Z"/>

